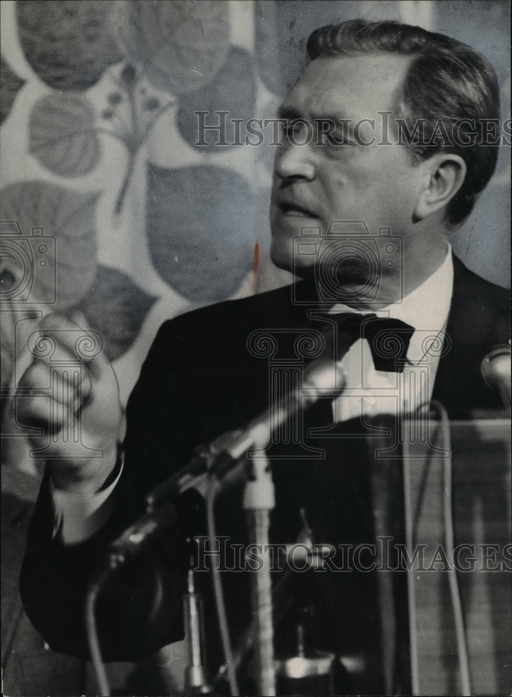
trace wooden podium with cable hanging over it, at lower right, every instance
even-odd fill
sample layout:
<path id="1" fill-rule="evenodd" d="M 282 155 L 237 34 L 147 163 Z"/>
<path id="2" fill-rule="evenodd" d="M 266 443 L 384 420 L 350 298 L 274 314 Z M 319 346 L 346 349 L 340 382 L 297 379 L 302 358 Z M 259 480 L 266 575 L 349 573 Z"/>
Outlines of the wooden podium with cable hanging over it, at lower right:
<path id="1" fill-rule="evenodd" d="M 385 446 L 385 438 L 368 443 L 373 453 L 381 453 L 370 474 L 375 535 L 391 538 L 392 561 L 401 567 L 388 570 L 389 559 L 377 560 L 386 694 L 414 694 L 414 683 L 417 694 L 464 694 L 450 565 L 458 581 L 472 694 L 506 694 L 512 684 L 511 423 L 504 413 L 475 416 L 450 422 L 449 453 L 442 424 L 435 420 L 428 429 L 424 422 L 405 424 L 394 450 Z M 446 459 L 451 555 L 445 542 Z M 407 518 L 413 549 L 405 557 L 400 544 L 407 537 Z"/>

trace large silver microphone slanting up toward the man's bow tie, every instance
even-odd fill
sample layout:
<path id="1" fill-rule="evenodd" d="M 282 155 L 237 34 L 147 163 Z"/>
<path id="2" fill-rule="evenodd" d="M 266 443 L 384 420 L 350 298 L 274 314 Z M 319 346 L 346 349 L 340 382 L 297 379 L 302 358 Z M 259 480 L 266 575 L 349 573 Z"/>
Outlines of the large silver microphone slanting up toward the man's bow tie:
<path id="1" fill-rule="evenodd" d="M 264 447 L 274 429 L 280 427 L 301 408 L 308 409 L 313 406 L 320 397 L 338 397 L 345 388 L 345 383 L 345 371 L 332 358 L 319 358 L 311 362 L 304 371 L 299 388 L 287 392 L 276 404 L 251 420 L 245 428 L 229 431 L 213 441 L 208 448 L 198 450 L 186 467 L 153 489 L 146 497 L 148 510 L 153 510 L 202 482 L 206 473 L 222 479 L 249 448 Z"/>

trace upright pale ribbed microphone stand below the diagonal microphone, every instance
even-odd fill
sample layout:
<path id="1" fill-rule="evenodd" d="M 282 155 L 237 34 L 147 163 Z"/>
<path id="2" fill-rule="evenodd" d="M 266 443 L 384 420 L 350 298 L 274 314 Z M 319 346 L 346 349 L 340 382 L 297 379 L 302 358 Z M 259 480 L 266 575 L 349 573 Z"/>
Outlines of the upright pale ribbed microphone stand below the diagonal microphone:
<path id="1" fill-rule="evenodd" d="M 261 550 L 262 565 L 251 576 L 251 610 L 255 624 L 254 665 L 256 694 L 276 695 L 273 654 L 272 583 L 270 575 L 269 521 L 275 507 L 270 463 L 262 450 L 251 452 L 252 472 L 243 491 L 249 544 Z"/>

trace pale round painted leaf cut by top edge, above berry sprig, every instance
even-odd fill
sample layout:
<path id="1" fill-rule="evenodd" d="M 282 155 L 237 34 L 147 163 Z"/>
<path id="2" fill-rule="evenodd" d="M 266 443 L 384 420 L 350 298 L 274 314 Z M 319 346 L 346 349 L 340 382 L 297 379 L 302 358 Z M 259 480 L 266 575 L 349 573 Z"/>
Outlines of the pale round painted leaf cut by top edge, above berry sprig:
<path id="1" fill-rule="evenodd" d="M 119 45 L 153 86 L 176 95 L 191 92 L 225 61 L 227 5 L 223 0 L 132 0 L 118 8 Z"/>

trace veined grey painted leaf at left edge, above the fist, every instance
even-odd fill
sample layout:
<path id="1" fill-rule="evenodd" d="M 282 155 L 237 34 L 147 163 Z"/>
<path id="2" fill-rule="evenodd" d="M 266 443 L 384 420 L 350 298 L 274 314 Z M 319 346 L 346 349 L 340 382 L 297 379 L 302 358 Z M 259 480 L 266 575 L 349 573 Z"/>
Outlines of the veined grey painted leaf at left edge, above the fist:
<path id="1" fill-rule="evenodd" d="M 96 269 L 99 196 L 41 181 L 1 190 L 0 262 L 6 300 L 44 302 L 57 310 L 82 300 Z"/>

